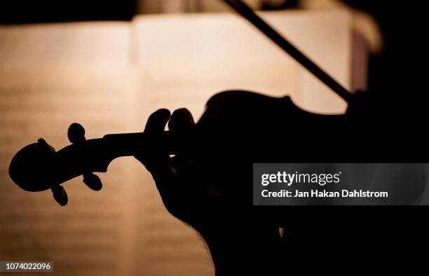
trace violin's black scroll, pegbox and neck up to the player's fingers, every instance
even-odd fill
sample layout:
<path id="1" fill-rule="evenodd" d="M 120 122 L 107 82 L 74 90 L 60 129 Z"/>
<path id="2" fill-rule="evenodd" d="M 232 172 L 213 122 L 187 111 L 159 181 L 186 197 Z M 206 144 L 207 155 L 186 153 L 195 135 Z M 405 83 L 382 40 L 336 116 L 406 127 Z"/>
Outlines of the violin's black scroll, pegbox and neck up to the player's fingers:
<path id="1" fill-rule="evenodd" d="M 64 206 L 68 197 L 60 184 L 83 175 L 86 186 L 100 191 L 102 182 L 93 172 L 107 172 L 112 160 L 133 156 L 145 141 L 151 140 L 142 132 L 107 134 L 100 139 L 86 140 L 85 130 L 79 123 L 69 126 L 67 136 L 71 145 L 57 152 L 42 138 L 18 151 L 9 166 L 9 175 L 15 184 L 30 192 L 51 189 L 55 200 Z M 165 142 L 158 142 L 171 145 L 170 132 L 162 135 L 161 140 L 164 139 Z"/>

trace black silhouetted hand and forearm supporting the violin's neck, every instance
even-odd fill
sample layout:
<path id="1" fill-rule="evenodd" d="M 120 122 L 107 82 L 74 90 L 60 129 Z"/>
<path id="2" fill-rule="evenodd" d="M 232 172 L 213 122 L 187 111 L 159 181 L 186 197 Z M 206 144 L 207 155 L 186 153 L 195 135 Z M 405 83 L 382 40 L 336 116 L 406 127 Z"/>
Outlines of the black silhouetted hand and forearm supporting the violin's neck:
<path id="1" fill-rule="evenodd" d="M 167 123 L 179 141 L 177 154 L 172 158 L 165 145 L 156 142 Z M 189 151 L 189 137 L 195 129 L 189 110 L 178 109 L 170 116 L 167 109 L 159 109 L 151 114 L 144 129 L 145 134 L 153 137 L 153 143 L 135 158 L 151 172 L 168 212 L 204 237 L 217 274 L 244 269 L 254 272 L 259 266 L 266 271 L 266 263 L 275 262 L 273 256 L 280 244 L 278 228 L 255 219 L 249 212 L 251 205 L 239 208 L 241 202 L 231 204 L 228 197 L 219 193 L 212 179 L 227 179 L 227 173 L 211 173 L 210 168 L 204 167 L 207 163 L 194 158 Z"/>

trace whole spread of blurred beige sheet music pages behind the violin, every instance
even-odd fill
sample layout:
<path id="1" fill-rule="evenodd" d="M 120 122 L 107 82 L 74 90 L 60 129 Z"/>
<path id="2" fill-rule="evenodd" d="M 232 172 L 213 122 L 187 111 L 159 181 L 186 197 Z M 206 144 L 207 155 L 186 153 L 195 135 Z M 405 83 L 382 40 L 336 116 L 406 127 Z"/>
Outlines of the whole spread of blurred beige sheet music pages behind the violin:
<path id="1" fill-rule="evenodd" d="M 348 13 L 264 17 L 349 85 Z M 210 95 L 232 88 L 292 95 L 317 111 L 345 107 L 233 15 L 0 27 L 0 259 L 55 261 L 57 275 L 213 275 L 203 241 L 165 211 L 133 158 L 100 174 L 100 192 L 81 178 L 64 184 L 67 207 L 50 191 L 21 191 L 8 163 L 39 137 L 67 146 L 70 123 L 88 139 L 136 132 L 159 107 L 187 106 L 198 118 Z"/>

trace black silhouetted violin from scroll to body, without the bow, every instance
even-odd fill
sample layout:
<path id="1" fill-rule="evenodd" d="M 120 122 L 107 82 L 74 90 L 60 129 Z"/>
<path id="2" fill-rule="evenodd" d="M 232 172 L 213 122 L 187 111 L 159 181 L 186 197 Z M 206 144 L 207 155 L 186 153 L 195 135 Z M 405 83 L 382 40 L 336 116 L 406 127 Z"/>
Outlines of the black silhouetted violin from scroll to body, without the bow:
<path id="1" fill-rule="evenodd" d="M 259 112 L 254 112 L 255 109 Z M 291 120 L 285 121 L 283 118 L 291 118 Z M 277 145 L 285 142 L 283 132 L 287 133 L 291 129 L 300 132 L 301 135 L 287 136 L 286 139 L 291 144 L 304 143 L 307 139 L 305 137 L 312 136 L 302 126 L 314 125 L 307 129 L 308 131 L 329 129 L 340 125 L 344 118 L 344 116 L 325 116 L 304 111 L 294 105 L 290 97 L 269 97 L 247 91 L 220 92 L 207 102 L 203 116 L 196 123 L 196 129 L 186 132 L 185 137 L 164 131 L 156 137 L 144 132 L 135 132 L 107 134 L 98 139 L 86 139 L 83 126 L 73 123 L 67 131 L 67 137 L 71 142 L 69 146 L 55 151 L 45 139 L 40 138 L 36 143 L 25 146 L 13 156 L 9 175 L 15 184 L 25 191 L 39 192 L 50 189 L 53 198 L 64 206 L 67 205 L 68 196 L 62 184 L 75 177 L 83 176 L 83 183 L 88 188 L 100 191 L 102 182 L 94 172 L 107 172 L 109 164 L 115 158 L 137 156 L 142 152 L 144 154 L 144 150 L 154 144 L 161 145 L 172 155 L 177 153 L 177 149 L 183 149 L 186 146 L 186 152 L 199 162 L 211 167 L 214 171 L 224 171 L 233 162 L 225 161 L 226 154 L 229 154 L 229 158 L 235 155 L 242 156 L 244 160 L 260 160 L 261 156 L 264 156 L 265 160 L 269 160 L 273 156 L 266 158 L 266 153 L 283 154 L 283 151 L 275 149 Z M 282 134 L 275 137 L 265 134 L 271 133 L 282 123 L 287 125 L 285 131 L 279 132 Z M 335 141 L 332 138 L 324 135 L 318 139 L 319 142 L 308 141 L 308 149 L 311 148 L 313 152 L 318 148 L 326 149 L 328 140 Z M 252 147 L 258 143 L 265 146 L 260 149 Z M 290 149 L 287 154 L 293 158 Z M 299 156 L 299 153 L 297 152 L 295 156 Z M 324 154 L 321 153 L 320 156 Z M 228 165 L 225 165 L 227 162 L 229 162 Z M 219 179 L 216 182 L 225 181 Z"/>

